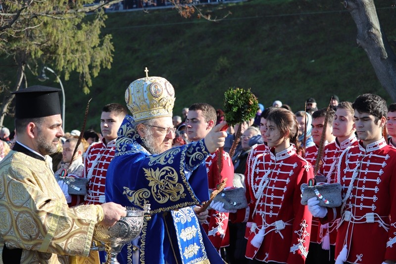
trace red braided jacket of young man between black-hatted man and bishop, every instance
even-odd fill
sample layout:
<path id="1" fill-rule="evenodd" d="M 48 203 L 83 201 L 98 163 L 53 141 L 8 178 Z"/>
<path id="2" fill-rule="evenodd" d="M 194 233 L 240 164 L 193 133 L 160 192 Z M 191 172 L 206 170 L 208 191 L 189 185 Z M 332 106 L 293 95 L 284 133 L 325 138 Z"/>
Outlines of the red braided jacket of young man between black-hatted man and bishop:
<path id="1" fill-rule="evenodd" d="M 103 139 L 104 141 L 104 139 Z M 87 185 L 86 205 L 100 205 L 104 200 L 104 185 L 106 183 L 106 173 L 110 161 L 115 155 L 115 139 L 108 142 L 92 144 L 85 155 L 84 177 L 89 182 Z"/>

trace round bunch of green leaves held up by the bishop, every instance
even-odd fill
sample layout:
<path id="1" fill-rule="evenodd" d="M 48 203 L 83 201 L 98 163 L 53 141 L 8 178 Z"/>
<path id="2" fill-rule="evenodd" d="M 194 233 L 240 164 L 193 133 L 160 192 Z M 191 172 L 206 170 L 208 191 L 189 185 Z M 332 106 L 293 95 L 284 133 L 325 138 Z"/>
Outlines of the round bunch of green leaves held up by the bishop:
<path id="1" fill-rule="evenodd" d="M 258 110 L 258 100 L 250 88 L 230 88 L 224 93 L 224 113 L 228 125 L 248 121 Z"/>

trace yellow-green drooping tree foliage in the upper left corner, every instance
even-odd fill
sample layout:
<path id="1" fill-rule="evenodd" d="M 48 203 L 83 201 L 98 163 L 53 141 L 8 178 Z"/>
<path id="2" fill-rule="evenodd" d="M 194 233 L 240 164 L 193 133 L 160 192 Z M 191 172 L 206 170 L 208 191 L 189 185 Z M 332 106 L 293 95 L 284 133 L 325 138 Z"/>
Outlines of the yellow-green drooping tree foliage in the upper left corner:
<path id="1" fill-rule="evenodd" d="M 93 1 L 4 1 L 5 12 L 22 12 L 12 27 L 1 32 L 0 55 L 7 54 L 34 72 L 47 64 L 65 80 L 76 71 L 84 93 L 89 93 L 92 78 L 101 68 L 111 67 L 114 51 L 111 35 L 100 35 L 107 18 L 103 9 L 89 18 L 78 11 Z"/>

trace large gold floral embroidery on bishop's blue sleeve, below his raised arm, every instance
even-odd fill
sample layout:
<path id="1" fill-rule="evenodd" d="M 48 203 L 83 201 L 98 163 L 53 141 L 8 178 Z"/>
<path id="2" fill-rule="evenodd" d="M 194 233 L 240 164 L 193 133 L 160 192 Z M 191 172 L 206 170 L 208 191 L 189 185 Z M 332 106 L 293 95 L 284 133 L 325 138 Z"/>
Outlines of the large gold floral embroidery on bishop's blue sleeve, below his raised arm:
<path id="1" fill-rule="evenodd" d="M 176 202 L 186 196 L 183 184 L 178 183 L 178 174 L 174 168 L 166 166 L 161 169 L 143 168 L 143 170 L 156 202 L 160 204 L 164 204 L 168 200 Z"/>

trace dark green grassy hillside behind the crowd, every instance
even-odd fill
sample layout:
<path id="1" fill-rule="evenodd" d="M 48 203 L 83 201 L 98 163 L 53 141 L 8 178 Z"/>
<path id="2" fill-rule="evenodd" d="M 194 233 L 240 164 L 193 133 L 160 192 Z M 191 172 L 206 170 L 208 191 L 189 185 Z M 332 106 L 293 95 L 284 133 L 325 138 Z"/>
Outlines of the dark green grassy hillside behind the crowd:
<path id="1" fill-rule="evenodd" d="M 395 10 L 386 0 L 376 4 L 388 38 L 396 39 Z M 224 91 L 234 86 L 251 88 L 264 106 L 280 100 L 294 111 L 303 109 L 308 97 L 325 107 L 332 94 L 353 101 L 370 92 L 391 103 L 356 45 L 356 27 L 342 3 L 250 0 L 203 9 L 212 18 L 232 14 L 209 22 L 182 18 L 173 9 L 109 13 L 104 33 L 113 36 L 112 68 L 94 79 L 89 95 L 82 93 L 76 76 L 63 83 L 66 131 L 81 127 L 91 97 L 88 126 L 99 130 L 101 107 L 125 104 L 125 89 L 145 76 L 145 67 L 149 75 L 173 84 L 178 115 L 198 102 L 221 108 Z"/>

